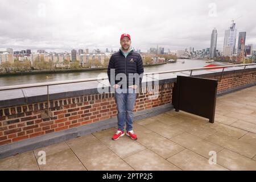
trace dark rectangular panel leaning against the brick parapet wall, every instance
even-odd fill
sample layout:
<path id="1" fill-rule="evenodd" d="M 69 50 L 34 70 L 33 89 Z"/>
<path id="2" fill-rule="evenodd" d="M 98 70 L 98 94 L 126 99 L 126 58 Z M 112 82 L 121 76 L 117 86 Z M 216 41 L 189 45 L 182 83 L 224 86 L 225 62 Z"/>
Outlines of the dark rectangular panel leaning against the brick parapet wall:
<path id="1" fill-rule="evenodd" d="M 172 90 L 172 105 L 176 111 L 200 115 L 214 122 L 218 80 L 177 76 Z"/>

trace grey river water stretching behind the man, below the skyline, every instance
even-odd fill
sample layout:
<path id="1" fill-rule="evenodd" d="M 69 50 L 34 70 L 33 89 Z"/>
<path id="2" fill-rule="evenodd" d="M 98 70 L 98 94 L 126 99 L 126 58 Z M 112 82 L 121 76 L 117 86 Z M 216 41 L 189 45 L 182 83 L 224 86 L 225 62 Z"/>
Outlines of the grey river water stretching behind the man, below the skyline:
<path id="1" fill-rule="evenodd" d="M 185 61 L 185 63 L 182 63 L 183 61 Z M 176 69 L 200 68 L 209 64 L 220 64 L 220 65 L 228 64 L 228 63 L 222 63 L 222 62 L 205 63 L 205 61 L 206 60 L 199 60 L 199 59 L 193 59 L 193 60 L 178 59 L 176 63 L 168 63 L 168 64 L 156 65 L 152 67 L 144 67 L 144 73 L 171 71 Z M 39 82 L 49 82 L 49 81 L 76 80 L 81 78 L 97 78 L 98 76 L 100 77 L 107 76 L 106 70 L 74 72 L 74 73 L 23 75 L 23 76 L 3 76 L 3 77 L 0 77 L 0 86 L 35 84 Z"/>

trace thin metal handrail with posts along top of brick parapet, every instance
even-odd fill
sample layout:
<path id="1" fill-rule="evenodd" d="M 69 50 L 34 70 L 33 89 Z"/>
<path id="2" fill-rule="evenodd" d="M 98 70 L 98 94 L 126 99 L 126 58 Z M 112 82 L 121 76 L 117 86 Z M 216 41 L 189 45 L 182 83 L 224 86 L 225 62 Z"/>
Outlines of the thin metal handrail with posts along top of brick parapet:
<path id="1" fill-rule="evenodd" d="M 212 68 L 222 68 L 221 77 L 220 77 L 220 80 L 221 80 L 225 68 L 243 67 L 243 69 L 245 69 L 246 66 L 249 66 L 249 65 L 256 65 L 256 63 L 237 64 L 237 65 L 220 65 L 220 66 L 217 66 L 217 67 L 203 67 L 203 68 L 192 68 L 192 69 L 177 69 L 177 70 L 172 70 L 172 71 L 150 72 L 150 73 L 143 73 L 143 76 L 155 75 L 155 74 L 164 74 L 164 73 L 177 73 L 177 72 L 185 72 L 185 71 L 190 71 L 190 76 L 192 76 L 193 71 L 205 70 L 205 69 L 209 69 L 209 68 L 210 69 L 212 69 Z M 39 83 L 39 84 L 2 86 L 2 87 L 0 87 L 0 91 L 14 90 L 14 89 L 24 89 L 24 88 L 34 88 L 34 87 L 39 87 L 39 86 L 47 86 L 47 113 L 48 113 L 47 115 L 49 116 L 49 86 L 51 86 L 51 85 L 62 85 L 62 84 L 74 84 L 74 83 L 78 83 L 78 82 L 88 82 L 88 81 L 100 81 L 100 80 L 108 80 L 108 77 L 85 78 L 85 79 L 67 80 L 67 81 L 42 82 L 42 83 Z"/>

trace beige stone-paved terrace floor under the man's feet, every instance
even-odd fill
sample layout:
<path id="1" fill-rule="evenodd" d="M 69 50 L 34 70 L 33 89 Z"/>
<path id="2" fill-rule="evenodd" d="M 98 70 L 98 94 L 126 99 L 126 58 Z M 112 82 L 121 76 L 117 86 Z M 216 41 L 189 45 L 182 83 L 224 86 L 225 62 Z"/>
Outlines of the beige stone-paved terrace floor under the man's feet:
<path id="1" fill-rule="evenodd" d="M 0 160 L 1 170 L 256 170 L 256 86 L 217 98 L 215 122 L 183 111 L 135 122 L 138 140 L 116 128 Z M 39 151 L 46 165 L 39 165 Z M 209 151 L 217 164 L 209 164 Z"/>

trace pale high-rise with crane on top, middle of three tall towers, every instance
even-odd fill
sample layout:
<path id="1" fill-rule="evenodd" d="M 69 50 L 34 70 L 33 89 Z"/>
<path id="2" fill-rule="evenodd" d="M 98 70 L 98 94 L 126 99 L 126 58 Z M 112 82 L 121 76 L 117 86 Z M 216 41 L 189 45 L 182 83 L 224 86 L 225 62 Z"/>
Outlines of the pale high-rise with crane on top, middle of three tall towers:
<path id="1" fill-rule="evenodd" d="M 232 21 L 232 24 L 229 27 L 229 29 L 225 30 L 224 47 L 223 47 L 224 56 L 232 56 L 236 53 L 236 39 L 237 39 L 236 23 Z"/>

